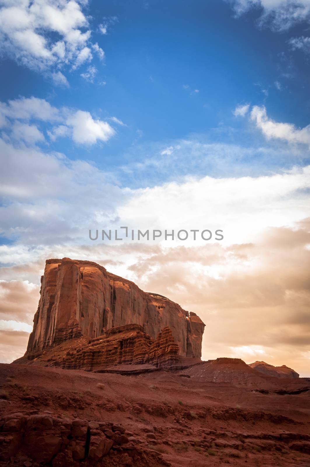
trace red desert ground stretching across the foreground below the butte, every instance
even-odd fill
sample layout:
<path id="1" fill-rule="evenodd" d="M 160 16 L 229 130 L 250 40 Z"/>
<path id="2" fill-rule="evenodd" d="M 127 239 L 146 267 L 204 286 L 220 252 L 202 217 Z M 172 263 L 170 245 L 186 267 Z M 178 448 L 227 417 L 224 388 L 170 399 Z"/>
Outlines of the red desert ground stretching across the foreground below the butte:
<path id="1" fill-rule="evenodd" d="M 158 368 L 125 376 L 1 364 L 0 418 L 5 424 L 0 424 L 7 426 L 9 439 L 0 446 L 20 436 L 21 423 L 28 432 L 23 451 L 0 466 L 309 467 L 310 382 L 299 379 L 300 394 L 280 395 L 276 378 L 261 375 L 269 385 L 268 394 L 262 394 L 252 384 L 237 387 L 221 377 L 206 381 L 208 365 L 182 370 L 192 373 L 189 378 Z M 212 375 L 222 374 L 216 373 L 220 365 L 213 362 Z M 290 390 L 293 382 L 282 379 L 281 386 Z M 68 461 L 63 453 L 49 459 L 58 426 L 75 457 L 88 426 L 93 441 L 88 441 L 87 460 Z M 30 429 L 42 430 L 41 438 Z M 112 444 L 111 439 L 114 445 L 97 461 L 102 431 L 105 442 Z"/>

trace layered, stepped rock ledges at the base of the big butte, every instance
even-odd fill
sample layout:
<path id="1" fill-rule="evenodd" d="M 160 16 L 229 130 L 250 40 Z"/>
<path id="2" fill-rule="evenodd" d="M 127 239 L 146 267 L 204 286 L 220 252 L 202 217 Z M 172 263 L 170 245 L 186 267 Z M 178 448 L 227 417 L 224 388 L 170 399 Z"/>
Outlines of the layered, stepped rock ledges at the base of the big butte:
<path id="1" fill-rule="evenodd" d="M 179 347 L 169 327 L 152 339 L 140 325 L 131 324 L 113 327 L 95 339 L 83 336 L 68 340 L 48 347 L 34 359 L 26 355 L 15 363 L 97 372 L 120 365 L 135 367 L 148 364 L 148 367 L 156 369 L 172 368 L 178 362 L 178 353 Z"/>

